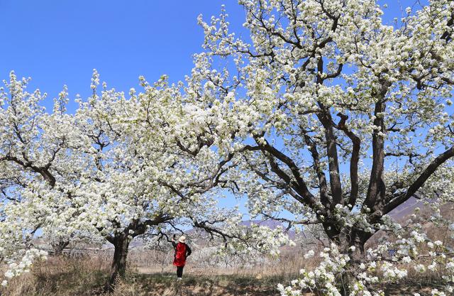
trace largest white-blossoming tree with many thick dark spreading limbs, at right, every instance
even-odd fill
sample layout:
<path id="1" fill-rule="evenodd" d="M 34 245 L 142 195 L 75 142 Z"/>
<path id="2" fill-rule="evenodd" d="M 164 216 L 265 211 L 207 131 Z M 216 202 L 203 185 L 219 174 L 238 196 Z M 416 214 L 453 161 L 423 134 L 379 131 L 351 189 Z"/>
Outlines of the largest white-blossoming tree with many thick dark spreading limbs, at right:
<path id="1" fill-rule="evenodd" d="M 367 240 L 411 197 L 452 199 L 452 1 L 409 8 L 392 26 L 372 0 L 239 3 L 251 42 L 229 31 L 225 11 L 200 17 L 206 50 L 192 80 L 223 106 L 219 136 L 255 175 L 253 213 L 321 224 L 345 256 L 338 268 L 364 260 Z"/>

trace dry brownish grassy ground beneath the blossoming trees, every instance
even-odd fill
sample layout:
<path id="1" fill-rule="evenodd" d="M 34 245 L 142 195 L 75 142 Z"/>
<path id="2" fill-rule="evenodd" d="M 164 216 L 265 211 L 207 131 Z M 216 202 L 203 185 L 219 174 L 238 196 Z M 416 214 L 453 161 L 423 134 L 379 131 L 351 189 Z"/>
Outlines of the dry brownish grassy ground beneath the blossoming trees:
<path id="1" fill-rule="evenodd" d="M 96 258 L 50 258 L 33 267 L 31 273 L 15 278 L 8 287 L 0 288 L 5 296 L 267 296 L 277 295 L 278 283 L 288 284 L 296 275 L 291 273 L 252 273 L 238 270 L 221 274 L 214 270 L 185 270 L 184 280 L 175 274 L 154 270 L 132 269 L 116 285 L 115 292 L 103 293 L 109 270 L 105 261 Z M 423 283 L 423 282 L 422 282 Z M 431 295 L 427 285 L 402 284 L 381 287 L 385 295 Z M 306 294 L 312 295 L 312 294 Z"/>

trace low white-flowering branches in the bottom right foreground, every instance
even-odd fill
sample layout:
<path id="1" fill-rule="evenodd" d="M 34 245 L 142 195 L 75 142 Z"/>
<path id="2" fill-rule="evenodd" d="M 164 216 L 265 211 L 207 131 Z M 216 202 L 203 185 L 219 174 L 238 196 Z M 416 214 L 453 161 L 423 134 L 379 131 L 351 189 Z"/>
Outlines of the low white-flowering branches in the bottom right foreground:
<path id="1" fill-rule="evenodd" d="M 391 258 L 389 250 L 394 251 Z M 354 252 L 355 247 L 350 247 L 350 251 Z M 449 253 L 441 241 L 430 241 L 425 234 L 411 231 L 409 239 L 387 242 L 376 249 L 369 249 L 369 258 L 352 264 L 348 254 L 340 253 L 333 243 L 331 248 L 325 248 L 320 253 L 323 259 L 314 270 L 301 270 L 301 278 L 293 280 L 288 287 L 279 285 L 278 289 L 282 296 L 302 295 L 307 290 L 321 295 L 345 295 L 345 291 L 348 291 L 348 295 L 352 296 L 379 296 L 383 295 L 383 291 L 376 290 L 374 284 L 399 282 L 406 278 L 411 268 L 419 273 L 440 270 L 445 281 L 445 291 L 434 289 L 432 293 L 448 295 L 445 293 L 454 291 L 454 258 L 448 258 L 446 252 Z M 312 256 L 314 251 L 309 251 L 304 258 Z M 343 285 L 336 285 L 339 278 L 344 279 Z"/>

